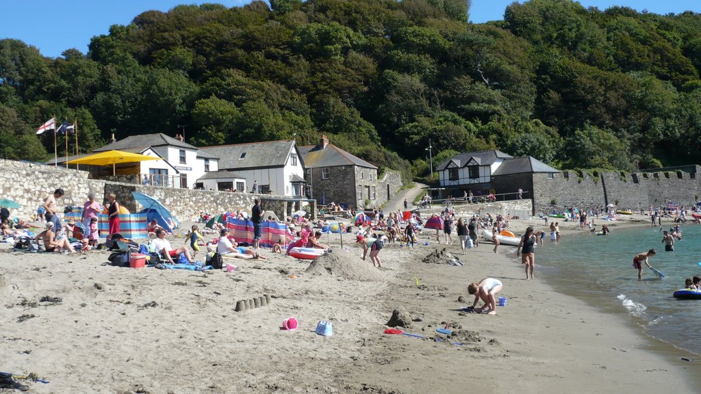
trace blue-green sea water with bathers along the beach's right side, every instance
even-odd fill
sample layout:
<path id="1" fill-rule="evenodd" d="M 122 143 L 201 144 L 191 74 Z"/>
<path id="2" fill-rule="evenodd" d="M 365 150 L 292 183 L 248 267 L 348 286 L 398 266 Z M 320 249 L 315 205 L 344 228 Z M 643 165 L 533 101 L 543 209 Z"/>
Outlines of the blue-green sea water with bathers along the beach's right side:
<path id="1" fill-rule="evenodd" d="M 536 276 L 606 313 L 625 313 L 651 337 L 701 354 L 701 300 L 672 297 L 685 278 L 701 276 L 701 226 L 681 230 L 674 252 L 665 252 L 659 227 L 614 228 L 607 236 L 587 231 L 557 243 L 546 238 L 536 248 Z M 643 264 L 643 280 L 638 280 L 633 257 L 652 248 L 657 254 L 648 261 L 666 278 L 659 279 Z"/>

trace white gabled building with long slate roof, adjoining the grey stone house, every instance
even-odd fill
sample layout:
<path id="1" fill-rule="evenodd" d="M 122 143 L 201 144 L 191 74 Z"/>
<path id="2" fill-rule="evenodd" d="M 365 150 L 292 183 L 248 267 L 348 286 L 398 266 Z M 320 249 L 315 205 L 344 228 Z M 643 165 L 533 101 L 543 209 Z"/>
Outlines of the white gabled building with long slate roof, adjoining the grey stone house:
<path id="1" fill-rule="evenodd" d="M 201 147 L 200 151 L 219 158 L 219 171 L 198 179 L 205 189 L 252 191 L 255 184 L 258 193 L 306 195 L 304 163 L 294 140 Z M 239 184 L 236 179 L 245 182 Z"/>

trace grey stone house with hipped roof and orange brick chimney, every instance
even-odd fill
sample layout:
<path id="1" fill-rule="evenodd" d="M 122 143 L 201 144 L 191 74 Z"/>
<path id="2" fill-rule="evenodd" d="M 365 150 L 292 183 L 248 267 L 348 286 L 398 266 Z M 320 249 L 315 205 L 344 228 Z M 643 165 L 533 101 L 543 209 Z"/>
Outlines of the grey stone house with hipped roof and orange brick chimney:
<path id="1" fill-rule="evenodd" d="M 319 143 L 299 147 L 306 166 L 311 196 L 321 205 L 332 202 L 348 208 L 375 208 L 386 201 L 390 189 L 377 180 L 377 167 L 329 144 L 322 135 Z M 380 190 L 382 189 L 382 190 Z M 382 193 L 382 194 L 381 194 Z"/>

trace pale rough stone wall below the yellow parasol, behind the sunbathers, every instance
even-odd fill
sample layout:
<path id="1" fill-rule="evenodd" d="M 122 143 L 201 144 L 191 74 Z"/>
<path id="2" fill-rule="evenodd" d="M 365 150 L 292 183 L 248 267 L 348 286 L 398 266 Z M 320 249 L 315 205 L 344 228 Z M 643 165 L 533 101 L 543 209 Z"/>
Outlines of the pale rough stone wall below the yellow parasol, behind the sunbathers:
<path id="1" fill-rule="evenodd" d="M 158 198 L 172 215 L 180 220 L 196 220 L 200 212 L 221 213 L 230 210 L 250 212 L 253 199 L 261 197 L 266 210 L 275 212 L 278 218 L 285 218 L 301 208 L 302 202 L 284 196 L 262 196 L 250 193 L 229 193 L 228 191 L 205 191 L 172 189 L 159 186 L 142 186 L 108 182 L 102 179 L 88 179 L 88 172 L 49 165 L 24 163 L 0 159 L 0 198 L 10 198 L 21 205 L 11 210 L 13 217 L 29 218 L 36 208 L 43 205 L 43 199 L 57 188 L 65 194 L 58 200 L 63 208 L 68 205 L 83 206 L 88 193 L 95 193 L 97 201 L 106 202 L 107 196 L 114 193 L 117 201 L 131 212 L 141 210 L 132 197 L 132 191 Z M 315 204 L 308 212 L 315 212 Z M 315 214 L 313 214 L 315 216 Z"/>

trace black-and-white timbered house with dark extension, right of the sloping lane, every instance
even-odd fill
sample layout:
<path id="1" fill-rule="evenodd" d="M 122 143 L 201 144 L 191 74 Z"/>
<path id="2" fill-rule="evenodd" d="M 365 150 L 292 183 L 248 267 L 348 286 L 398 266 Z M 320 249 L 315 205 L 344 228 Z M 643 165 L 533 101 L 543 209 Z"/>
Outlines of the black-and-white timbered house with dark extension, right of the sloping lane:
<path id="1" fill-rule="evenodd" d="M 435 189 L 435 198 L 461 198 L 465 191 L 474 196 L 494 192 L 500 201 L 517 198 L 519 188 L 523 198 L 531 198 L 533 175 L 545 173 L 552 179 L 560 172 L 531 156 L 516 158 L 496 149 L 457 154 L 437 171 L 440 188 Z"/>

